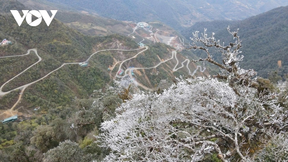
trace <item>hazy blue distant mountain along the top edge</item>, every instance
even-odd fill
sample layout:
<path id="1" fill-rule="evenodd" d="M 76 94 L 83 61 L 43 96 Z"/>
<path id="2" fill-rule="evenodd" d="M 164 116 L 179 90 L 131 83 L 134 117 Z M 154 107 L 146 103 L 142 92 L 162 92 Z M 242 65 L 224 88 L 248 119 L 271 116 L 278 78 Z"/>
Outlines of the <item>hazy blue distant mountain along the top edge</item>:
<path id="1" fill-rule="evenodd" d="M 286 0 L 47 0 L 76 10 L 127 21 L 162 21 L 172 27 L 203 20 L 238 20 L 286 6 Z M 60 7 L 60 6 L 59 6 Z"/>

